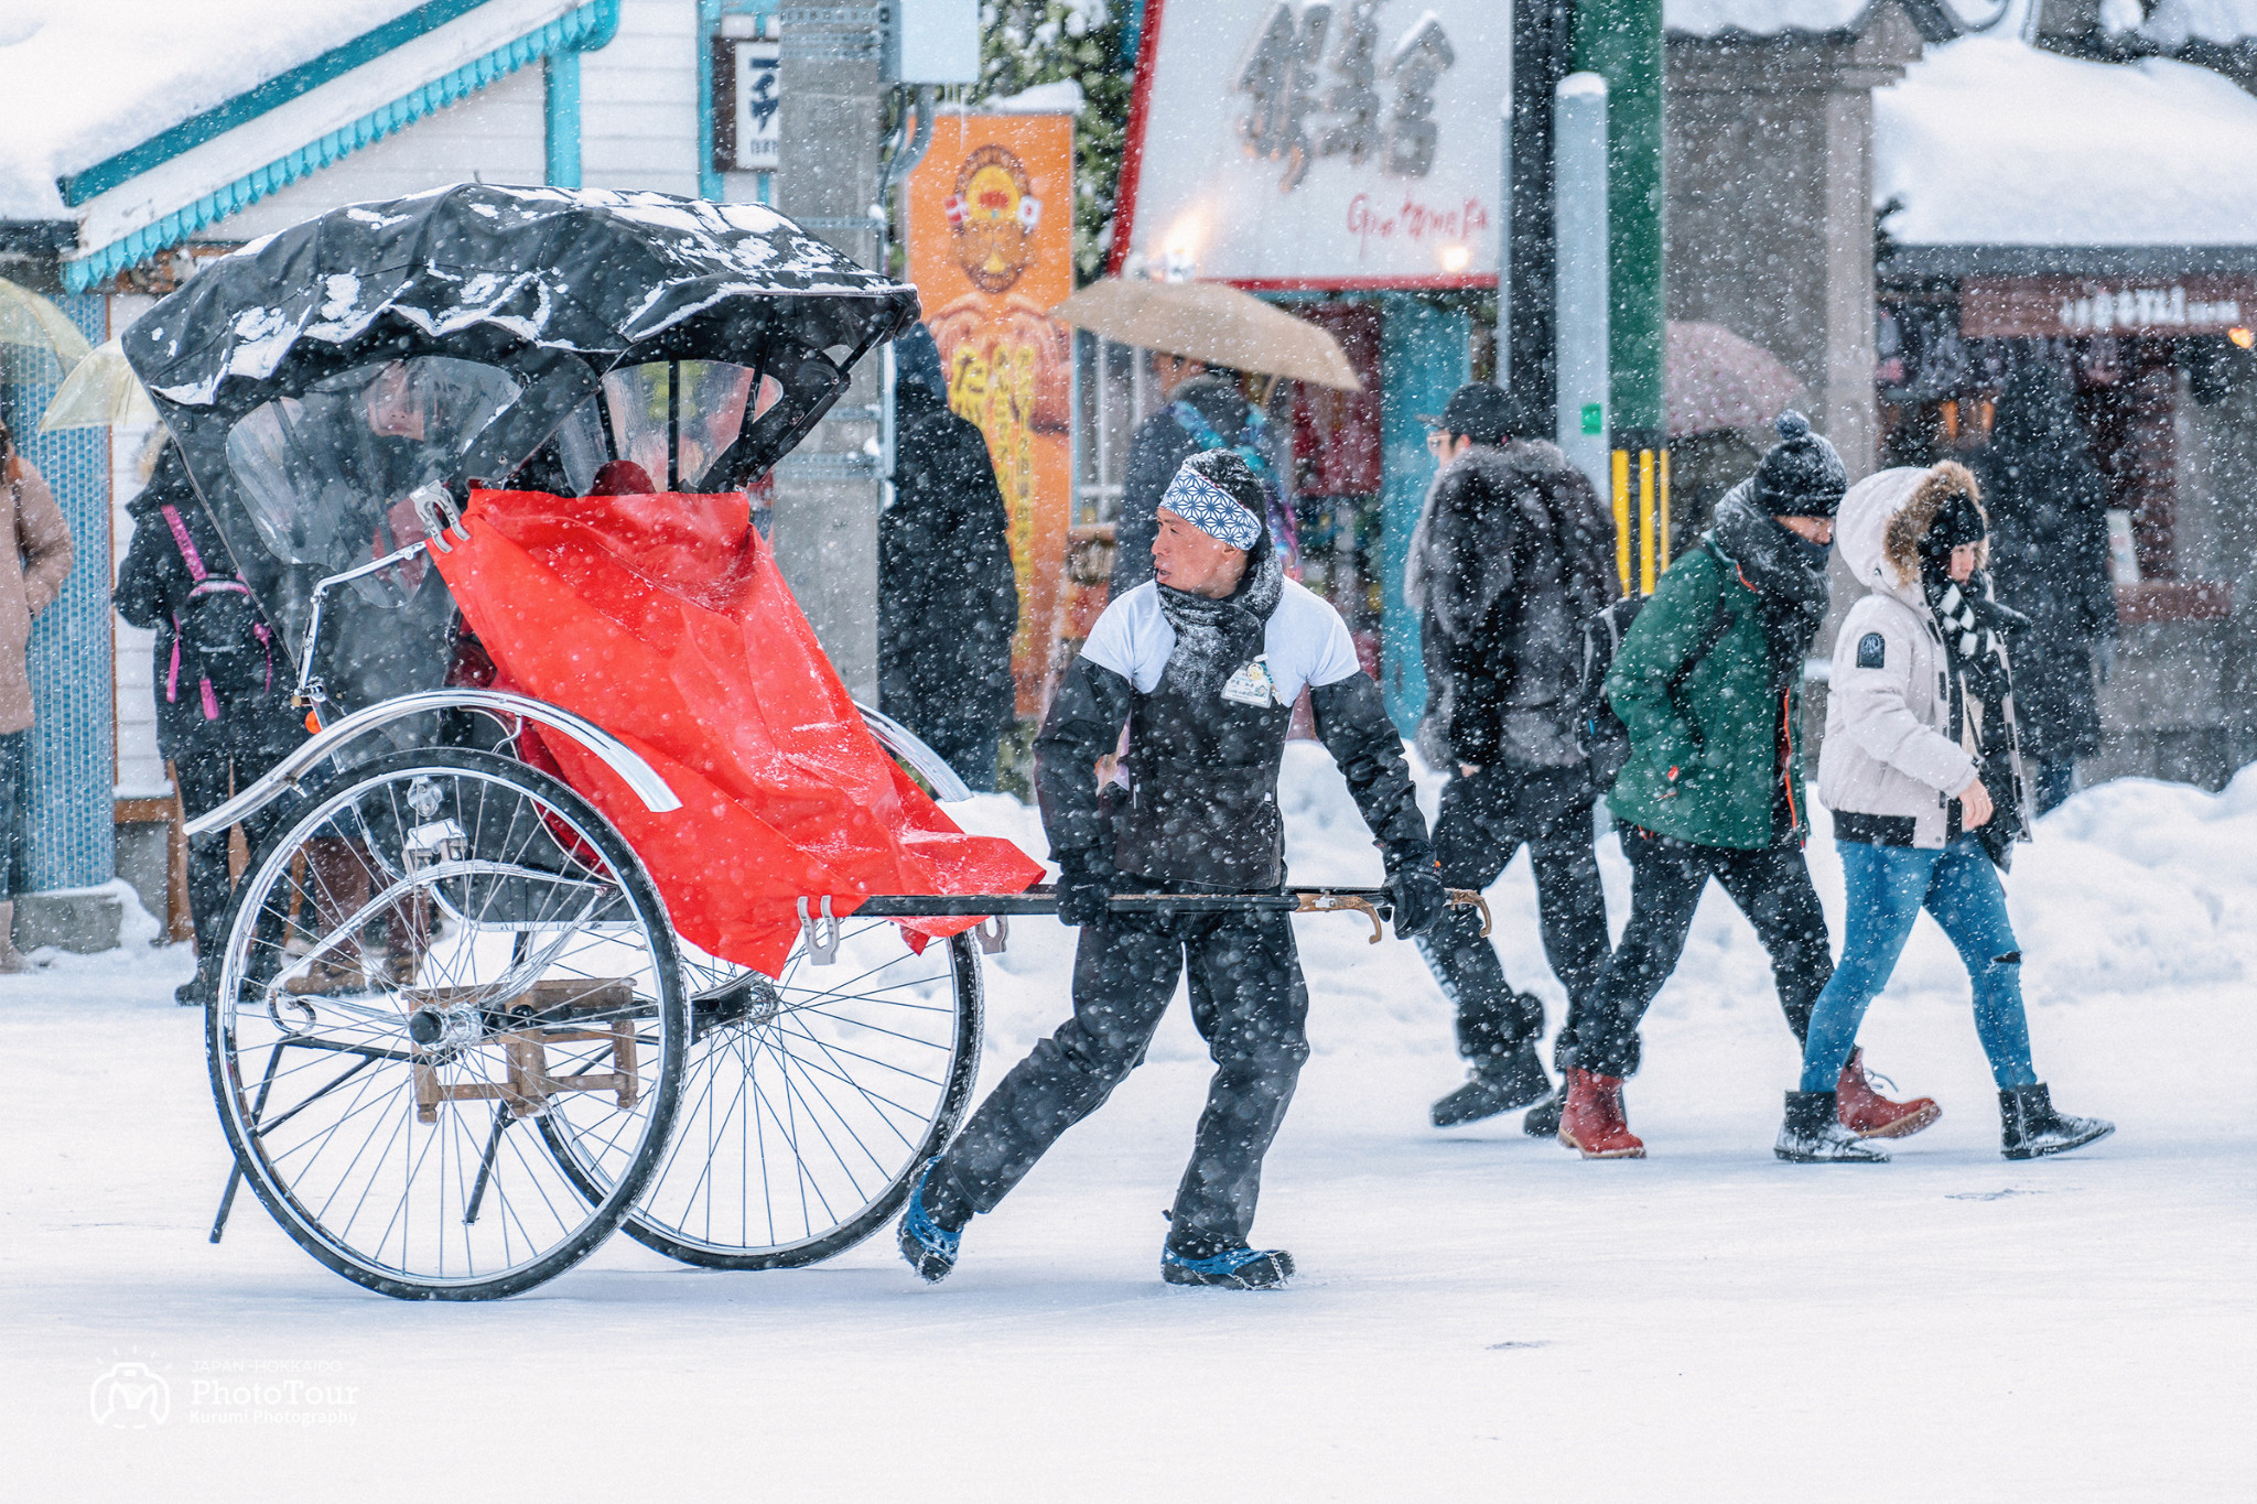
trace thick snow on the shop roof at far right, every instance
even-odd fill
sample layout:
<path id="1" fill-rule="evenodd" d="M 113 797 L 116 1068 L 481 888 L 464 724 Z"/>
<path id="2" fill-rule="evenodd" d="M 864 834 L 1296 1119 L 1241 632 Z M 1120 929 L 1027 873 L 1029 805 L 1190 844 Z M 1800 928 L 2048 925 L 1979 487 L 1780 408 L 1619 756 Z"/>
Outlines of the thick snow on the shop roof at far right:
<path id="1" fill-rule="evenodd" d="M 2257 246 L 2257 99 L 2192 63 L 1968 36 L 1873 92 L 1907 246 Z"/>

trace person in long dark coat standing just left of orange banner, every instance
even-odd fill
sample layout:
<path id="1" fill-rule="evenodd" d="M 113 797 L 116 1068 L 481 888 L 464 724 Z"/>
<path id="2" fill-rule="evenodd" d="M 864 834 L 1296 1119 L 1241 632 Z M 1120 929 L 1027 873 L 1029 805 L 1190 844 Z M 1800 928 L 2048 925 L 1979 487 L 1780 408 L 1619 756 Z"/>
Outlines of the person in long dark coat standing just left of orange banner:
<path id="1" fill-rule="evenodd" d="M 986 437 L 948 410 L 923 325 L 894 345 L 894 501 L 878 516 L 878 708 L 995 789 L 1016 713 L 1018 577 Z"/>

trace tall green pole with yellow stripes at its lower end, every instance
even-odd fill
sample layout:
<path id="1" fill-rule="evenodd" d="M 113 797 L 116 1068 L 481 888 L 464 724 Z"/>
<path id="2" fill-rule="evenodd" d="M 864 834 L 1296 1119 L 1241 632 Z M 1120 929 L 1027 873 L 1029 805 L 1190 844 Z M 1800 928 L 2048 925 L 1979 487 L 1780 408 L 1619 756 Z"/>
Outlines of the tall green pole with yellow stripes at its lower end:
<path id="1" fill-rule="evenodd" d="M 1609 446 L 1618 512 L 1636 516 L 1636 586 L 1650 593 L 1668 568 L 1670 505 L 1661 0 L 1578 0 L 1575 68 L 1607 79 Z"/>

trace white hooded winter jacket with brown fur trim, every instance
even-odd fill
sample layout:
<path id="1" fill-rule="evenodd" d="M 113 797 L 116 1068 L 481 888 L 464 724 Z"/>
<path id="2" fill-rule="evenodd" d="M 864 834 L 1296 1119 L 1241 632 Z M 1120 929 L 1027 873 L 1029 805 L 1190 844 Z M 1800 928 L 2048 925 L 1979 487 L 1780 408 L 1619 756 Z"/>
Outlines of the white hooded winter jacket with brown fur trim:
<path id="1" fill-rule="evenodd" d="M 1952 740 L 1943 636 L 1916 552 L 1961 489 L 1973 498 L 1975 478 L 1952 462 L 1885 469 L 1853 485 L 1835 519 L 1835 546 L 1867 595 L 1835 638 L 1819 798 L 1835 814 L 1909 819 L 1909 843 L 1927 848 L 1946 843 L 1952 796 L 1979 769 L 1973 737 Z"/>

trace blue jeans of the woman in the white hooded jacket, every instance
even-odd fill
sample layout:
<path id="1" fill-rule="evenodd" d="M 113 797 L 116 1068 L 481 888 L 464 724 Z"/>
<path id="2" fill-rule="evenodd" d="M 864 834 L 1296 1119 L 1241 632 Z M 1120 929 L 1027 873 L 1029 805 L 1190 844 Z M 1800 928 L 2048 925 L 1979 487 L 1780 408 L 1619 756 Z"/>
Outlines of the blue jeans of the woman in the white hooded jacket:
<path id="1" fill-rule="evenodd" d="M 1975 983 L 1975 1033 L 2000 1087 L 2034 1087 L 2029 1019 L 2022 1012 L 2022 952 L 2006 920 L 2006 893 L 1977 837 L 1943 850 L 1837 841 L 1848 888 L 1842 961 L 1810 1012 L 1803 1091 L 1833 1091 L 1858 1044 L 1864 1008 L 1889 985 L 1912 922 L 1927 909 L 1959 949 Z"/>

